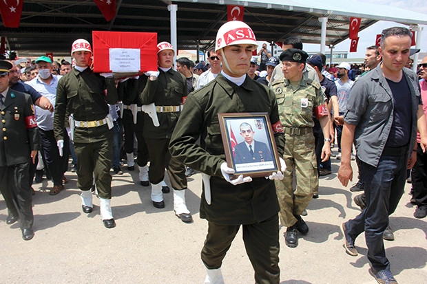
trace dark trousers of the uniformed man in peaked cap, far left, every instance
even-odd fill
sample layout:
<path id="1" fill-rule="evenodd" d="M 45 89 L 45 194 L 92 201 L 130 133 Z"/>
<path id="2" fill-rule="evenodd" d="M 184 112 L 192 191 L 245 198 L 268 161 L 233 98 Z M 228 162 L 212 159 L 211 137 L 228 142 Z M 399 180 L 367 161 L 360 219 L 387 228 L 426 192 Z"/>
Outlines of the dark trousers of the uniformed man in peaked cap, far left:
<path id="1" fill-rule="evenodd" d="M 9 212 L 21 220 L 21 229 L 30 229 L 34 223 L 29 173 L 30 163 L 0 166 L 1 195 Z"/>

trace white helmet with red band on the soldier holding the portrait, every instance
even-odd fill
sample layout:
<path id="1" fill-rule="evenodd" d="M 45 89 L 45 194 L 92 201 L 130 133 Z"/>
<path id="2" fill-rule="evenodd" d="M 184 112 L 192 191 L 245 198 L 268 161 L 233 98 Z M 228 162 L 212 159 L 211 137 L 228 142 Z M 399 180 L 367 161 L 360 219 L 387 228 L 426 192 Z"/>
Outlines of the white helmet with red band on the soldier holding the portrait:
<path id="1" fill-rule="evenodd" d="M 253 50 L 258 47 L 253 30 L 242 21 L 229 21 L 218 30 L 215 51 L 228 45 L 253 45 Z"/>

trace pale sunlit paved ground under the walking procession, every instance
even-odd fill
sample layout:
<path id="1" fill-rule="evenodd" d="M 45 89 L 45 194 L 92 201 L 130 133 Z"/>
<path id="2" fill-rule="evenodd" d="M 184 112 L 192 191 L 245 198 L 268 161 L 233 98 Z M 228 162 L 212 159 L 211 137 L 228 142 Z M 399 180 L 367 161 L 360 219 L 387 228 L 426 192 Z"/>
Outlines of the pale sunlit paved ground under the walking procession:
<path id="1" fill-rule="evenodd" d="M 333 173 L 338 164 L 333 160 Z M 353 169 L 355 165 L 353 165 Z M 45 179 L 34 184 L 34 230 L 32 241 L 23 241 L 17 223 L 6 225 L 6 204 L 0 197 L 0 283 L 203 283 L 205 268 L 200 250 L 207 221 L 199 218 L 200 174 L 189 178 L 187 204 L 194 223 L 174 216 L 172 193 L 165 195 L 166 208 L 156 209 L 150 190 L 135 184 L 138 173 L 113 176 L 112 206 L 117 226 L 104 228 L 98 200 L 94 212 L 81 212 L 76 174 L 59 195 L 50 196 Z M 427 223 L 415 219 L 414 206 L 406 193 L 390 217 L 395 241 L 386 241 L 391 270 L 399 283 L 426 283 Z M 304 217 L 310 232 L 300 238 L 298 248 L 288 248 L 280 237 L 281 283 L 376 283 L 368 274 L 366 244 L 361 235 L 357 257 L 342 247 L 342 221 L 360 210 L 348 188 L 335 174 L 320 180 L 320 198 L 309 204 Z M 285 231 L 281 229 L 281 235 Z M 253 283 L 253 270 L 238 234 L 222 265 L 225 282 Z"/>

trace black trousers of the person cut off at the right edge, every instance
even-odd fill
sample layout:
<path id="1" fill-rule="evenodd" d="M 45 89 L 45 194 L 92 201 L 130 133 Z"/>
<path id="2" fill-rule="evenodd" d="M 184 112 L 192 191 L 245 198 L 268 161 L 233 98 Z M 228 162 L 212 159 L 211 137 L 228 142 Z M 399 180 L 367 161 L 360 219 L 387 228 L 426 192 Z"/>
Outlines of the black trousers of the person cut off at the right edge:
<path id="1" fill-rule="evenodd" d="M 417 162 L 412 169 L 412 186 L 417 206 L 427 206 L 427 153 L 417 146 Z"/>

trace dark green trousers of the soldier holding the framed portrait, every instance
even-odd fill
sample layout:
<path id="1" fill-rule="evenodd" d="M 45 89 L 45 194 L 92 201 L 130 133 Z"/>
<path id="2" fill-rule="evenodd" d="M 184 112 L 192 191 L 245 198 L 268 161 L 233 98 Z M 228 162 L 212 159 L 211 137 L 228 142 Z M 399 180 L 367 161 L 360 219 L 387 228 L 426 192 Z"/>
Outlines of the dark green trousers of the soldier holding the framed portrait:
<path id="1" fill-rule="evenodd" d="M 221 225 L 209 222 L 202 261 L 207 269 L 222 265 L 231 242 L 243 228 L 243 241 L 247 255 L 255 270 L 256 283 L 273 284 L 280 282 L 279 268 L 279 215 L 275 214 L 260 223 L 247 225 Z"/>

